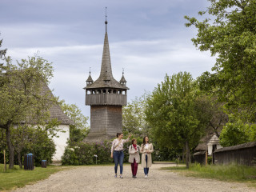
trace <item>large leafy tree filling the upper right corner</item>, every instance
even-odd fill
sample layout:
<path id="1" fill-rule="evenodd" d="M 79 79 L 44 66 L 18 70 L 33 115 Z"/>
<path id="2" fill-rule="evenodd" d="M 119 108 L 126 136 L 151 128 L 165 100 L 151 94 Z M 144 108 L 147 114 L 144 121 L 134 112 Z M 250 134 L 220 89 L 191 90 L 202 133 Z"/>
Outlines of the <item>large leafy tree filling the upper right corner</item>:
<path id="1" fill-rule="evenodd" d="M 209 18 L 199 22 L 185 16 L 186 26 L 198 29 L 194 46 L 216 56 L 213 73 L 200 78 L 202 90 L 213 92 L 229 114 L 243 122 L 256 121 L 256 1 L 210 0 Z M 207 16 L 206 16 L 207 17 Z M 210 21 L 214 18 L 214 21 Z"/>

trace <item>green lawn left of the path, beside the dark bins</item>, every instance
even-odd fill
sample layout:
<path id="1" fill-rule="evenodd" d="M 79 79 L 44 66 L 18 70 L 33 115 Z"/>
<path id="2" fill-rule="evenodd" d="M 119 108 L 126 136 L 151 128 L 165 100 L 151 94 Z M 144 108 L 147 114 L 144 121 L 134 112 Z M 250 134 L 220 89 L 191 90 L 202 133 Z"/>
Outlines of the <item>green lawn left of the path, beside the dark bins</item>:
<path id="1" fill-rule="evenodd" d="M 19 166 L 14 166 L 13 170 L 8 169 L 3 172 L 3 164 L 0 164 L 0 190 L 12 190 L 16 187 L 26 186 L 48 178 L 50 174 L 54 174 L 60 170 L 70 169 L 66 166 L 47 166 L 47 168 L 35 167 L 34 170 L 21 170 Z"/>

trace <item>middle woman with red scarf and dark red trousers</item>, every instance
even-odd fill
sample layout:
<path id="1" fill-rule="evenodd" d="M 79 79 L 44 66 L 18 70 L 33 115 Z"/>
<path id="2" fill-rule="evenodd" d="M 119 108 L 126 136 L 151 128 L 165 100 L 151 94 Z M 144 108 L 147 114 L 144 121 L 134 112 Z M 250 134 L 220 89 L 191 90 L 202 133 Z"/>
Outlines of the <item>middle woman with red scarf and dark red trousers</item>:
<path id="1" fill-rule="evenodd" d="M 131 145 L 129 146 L 129 162 L 131 163 L 131 172 L 133 174 L 133 178 L 137 178 L 137 170 L 138 170 L 138 163 L 140 161 L 139 157 L 139 146 L 137 145 L 137 140 L 134 138 L 131 140 Z"/>

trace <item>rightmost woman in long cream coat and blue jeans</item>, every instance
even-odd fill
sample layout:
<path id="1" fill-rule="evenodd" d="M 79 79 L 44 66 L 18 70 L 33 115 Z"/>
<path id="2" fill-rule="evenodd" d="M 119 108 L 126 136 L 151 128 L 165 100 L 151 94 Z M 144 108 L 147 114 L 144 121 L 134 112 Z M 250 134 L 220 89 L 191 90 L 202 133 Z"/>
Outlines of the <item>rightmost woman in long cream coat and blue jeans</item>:
<path id="1" fill-rule="evenodd" d="M 143 143 L 141 146 L 142 153 L 142 167 L 144 168 L 145 177 L 148 177 L 150 166 L 152 165 L 151 154 L 154 152 L 152 143 L 149 143 L 149 138 L 146 136 L 143 138 Z"/>

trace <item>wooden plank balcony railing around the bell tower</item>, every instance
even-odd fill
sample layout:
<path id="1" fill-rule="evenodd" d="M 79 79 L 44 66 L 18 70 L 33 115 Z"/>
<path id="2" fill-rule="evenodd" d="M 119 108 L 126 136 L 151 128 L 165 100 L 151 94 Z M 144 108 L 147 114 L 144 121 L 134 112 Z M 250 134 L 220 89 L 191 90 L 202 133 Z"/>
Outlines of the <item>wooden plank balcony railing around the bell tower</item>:
<path id="1" fill-rule="evenodd" d="M 86 94 L 86 106 L 126 106 L 126 94 Z"/>

